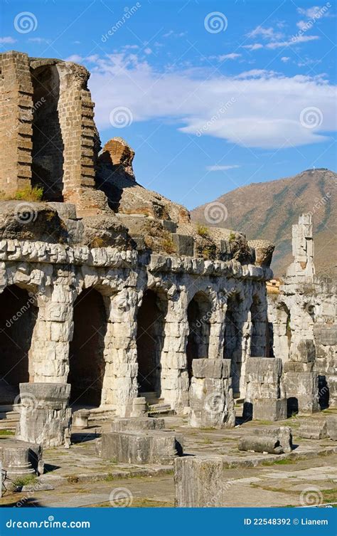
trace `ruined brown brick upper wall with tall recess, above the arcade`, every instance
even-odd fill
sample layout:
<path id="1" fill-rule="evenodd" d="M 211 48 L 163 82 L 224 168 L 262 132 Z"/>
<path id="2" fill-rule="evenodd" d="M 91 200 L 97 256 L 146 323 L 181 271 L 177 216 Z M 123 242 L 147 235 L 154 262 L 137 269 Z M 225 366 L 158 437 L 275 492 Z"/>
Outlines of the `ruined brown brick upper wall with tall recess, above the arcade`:
<path id="1" fill-rule="evenodd" d="M 43 186 L 48 201 L 77 204 L 79 213 L 105 209 L 95 191 L 97 129 L 87 80 L 75 63 L 0 55 L 0 190 Z"/>

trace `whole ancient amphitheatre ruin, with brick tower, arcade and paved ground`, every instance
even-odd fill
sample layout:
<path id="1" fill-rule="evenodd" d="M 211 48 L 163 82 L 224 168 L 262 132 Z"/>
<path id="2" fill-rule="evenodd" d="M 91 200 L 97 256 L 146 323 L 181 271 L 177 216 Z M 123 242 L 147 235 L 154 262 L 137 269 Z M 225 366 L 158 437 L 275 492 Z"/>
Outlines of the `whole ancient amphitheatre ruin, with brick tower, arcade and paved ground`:
<path id="1" fill-rule="evenodd" d="M 272 243 L 193 223 L 101 147 L 89 75 L 1 54 L 2 505 L 305 505 L 308 479 L 336 501 L 311 215 L 267 293 Z"/>

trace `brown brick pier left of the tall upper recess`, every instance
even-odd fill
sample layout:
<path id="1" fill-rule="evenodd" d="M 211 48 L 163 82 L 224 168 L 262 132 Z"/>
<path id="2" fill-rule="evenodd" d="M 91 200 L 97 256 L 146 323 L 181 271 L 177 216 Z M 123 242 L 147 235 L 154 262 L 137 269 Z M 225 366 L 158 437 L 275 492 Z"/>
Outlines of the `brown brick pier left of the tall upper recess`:
<path id="1" fill-rule="evenodd" d="M 27 54 L 0 55 L 0 191 L 31 186 L 33 86 Z"/>

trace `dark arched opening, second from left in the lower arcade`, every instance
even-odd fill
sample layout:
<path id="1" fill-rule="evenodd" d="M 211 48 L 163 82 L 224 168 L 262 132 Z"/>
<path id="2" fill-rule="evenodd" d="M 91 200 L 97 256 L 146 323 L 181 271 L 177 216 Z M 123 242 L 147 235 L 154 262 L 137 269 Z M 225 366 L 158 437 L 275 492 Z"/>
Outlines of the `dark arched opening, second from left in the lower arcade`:
<path id="1" fill-rule="evenodd" d="M 74 335 L 70 342 L 68 383 L 73 406 L 100 406 L 105 374 L 107 312 L 102 295 L 87 288 L 74 303 Z"/>

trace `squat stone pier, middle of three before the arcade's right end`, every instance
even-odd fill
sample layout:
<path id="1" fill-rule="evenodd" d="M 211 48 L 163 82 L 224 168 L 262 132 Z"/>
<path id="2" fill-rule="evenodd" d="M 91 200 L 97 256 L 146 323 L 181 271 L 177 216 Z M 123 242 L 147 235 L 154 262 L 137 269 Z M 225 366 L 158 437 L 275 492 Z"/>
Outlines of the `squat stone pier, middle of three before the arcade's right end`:
<path id="1" fill-rule="evenodd" d="M 287 419 L 287 399 L 282 382 L 282 359 L 250 357 L 246 362 L 245 419 Z"/>

